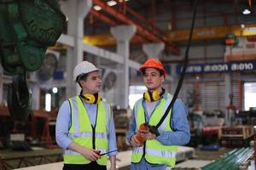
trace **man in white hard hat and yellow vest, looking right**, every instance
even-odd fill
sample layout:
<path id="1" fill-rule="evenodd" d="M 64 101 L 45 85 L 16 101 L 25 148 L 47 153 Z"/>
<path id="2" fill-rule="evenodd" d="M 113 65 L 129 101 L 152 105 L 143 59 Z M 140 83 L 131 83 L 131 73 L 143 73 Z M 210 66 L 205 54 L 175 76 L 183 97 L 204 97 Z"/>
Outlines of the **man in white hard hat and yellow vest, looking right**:
<path id="1" fill-rule="evenodd" d="M 113 112 L 99 94 L 100 71 L 88 61 L 76 65 L 73 81 L 82 88 L 79 95 L 61 105 L 56 121 L 56 141 L 63 148 L 63 170 L 115 170 L 117 154 Z"/>

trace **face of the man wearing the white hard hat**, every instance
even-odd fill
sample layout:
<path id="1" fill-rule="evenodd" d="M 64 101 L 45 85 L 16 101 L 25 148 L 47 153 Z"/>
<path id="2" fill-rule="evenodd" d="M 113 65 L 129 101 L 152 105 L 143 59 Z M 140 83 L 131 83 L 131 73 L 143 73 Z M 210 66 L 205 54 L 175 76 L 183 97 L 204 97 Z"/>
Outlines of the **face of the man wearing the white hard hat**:
<path id="1" fill-rule="evenodd" d="M 101 90 L 102 78 L 99 71 L 88 73 L 86 80 L 80 81 L 83 94 L 96 94 Z"/>

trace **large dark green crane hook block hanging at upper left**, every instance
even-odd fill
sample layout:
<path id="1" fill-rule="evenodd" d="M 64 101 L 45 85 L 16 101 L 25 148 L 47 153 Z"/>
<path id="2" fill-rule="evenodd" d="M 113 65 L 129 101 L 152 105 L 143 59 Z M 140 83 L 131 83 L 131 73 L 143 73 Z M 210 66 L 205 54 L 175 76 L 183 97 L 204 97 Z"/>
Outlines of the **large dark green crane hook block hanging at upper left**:
<path id="1" fill-rule="evenodd" d="M 8 108 L 15 120 L 25 120 L 31 112 L 26 72 L 39 69 L 65 22 L 56 0 L 0 0 L 0 62 L 13 76 Z"/>

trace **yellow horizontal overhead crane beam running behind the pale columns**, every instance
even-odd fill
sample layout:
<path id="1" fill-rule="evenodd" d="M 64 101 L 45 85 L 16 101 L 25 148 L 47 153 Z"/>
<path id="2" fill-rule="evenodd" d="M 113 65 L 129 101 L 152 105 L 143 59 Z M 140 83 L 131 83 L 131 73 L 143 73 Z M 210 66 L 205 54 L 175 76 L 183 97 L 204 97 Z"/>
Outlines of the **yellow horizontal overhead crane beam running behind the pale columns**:
<path id="1" fill-rule="evenodd" d="M 248 24 L 245 28 L 241 26 L 218 26 L 218 27 L 205 27 L 195 28 L 193 33 L 193 41 L 224 38 L 228 33 L 234 33 L 237 37 L 256 36 L 256 24 Z M 188 40 L 189 30 L 169 31 L 165 39 L 168 42 L 185 42 Z M 109 34 L 85 36 L 86 42 L 96 46 L 111 46 L 115 45 L 114 38 Z M 131 43 L 141 42 L 134 37 Z"/>

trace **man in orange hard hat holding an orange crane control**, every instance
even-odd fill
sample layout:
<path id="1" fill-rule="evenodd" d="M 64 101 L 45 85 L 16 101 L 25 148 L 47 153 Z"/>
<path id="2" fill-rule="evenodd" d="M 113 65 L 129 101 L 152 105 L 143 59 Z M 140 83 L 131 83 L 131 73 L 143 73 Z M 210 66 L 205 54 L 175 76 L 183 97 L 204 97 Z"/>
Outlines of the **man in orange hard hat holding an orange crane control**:
<path id="1" fill-rule="evenodd" d="M 172 94 L 162 87 L 166 69 L 160 60 L 150 58 L 139 71 L 148 90 L 134 105 L 126 137 L 133 146 L 131 170 L 171 169 L 175 166 L 177 145 L 189 143 L 188 111 L 177 99 L 160 127 L 156 127 L 172 101 Z"/>

